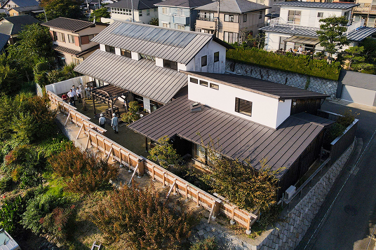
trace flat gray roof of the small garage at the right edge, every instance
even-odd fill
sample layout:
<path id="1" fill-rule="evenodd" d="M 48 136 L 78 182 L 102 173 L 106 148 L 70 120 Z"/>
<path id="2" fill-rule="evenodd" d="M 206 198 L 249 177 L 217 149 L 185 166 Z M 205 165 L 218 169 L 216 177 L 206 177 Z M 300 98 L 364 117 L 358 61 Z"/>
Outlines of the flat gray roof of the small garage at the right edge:
<path id="1" fill-rule="evenodd" d="M 376 75 L 341 70 L 338 81 L 342 82 L 344 85 L 367 90 L 376 90 Z"/>

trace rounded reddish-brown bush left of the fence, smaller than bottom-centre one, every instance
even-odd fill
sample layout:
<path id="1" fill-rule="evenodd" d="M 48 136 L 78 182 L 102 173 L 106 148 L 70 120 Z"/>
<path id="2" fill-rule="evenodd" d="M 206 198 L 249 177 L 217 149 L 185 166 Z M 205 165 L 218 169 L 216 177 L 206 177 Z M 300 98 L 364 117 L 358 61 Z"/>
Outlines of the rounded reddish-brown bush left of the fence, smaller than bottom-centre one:
<path id="1" fill-rule="evenodd" d="M 74 146 L 69 146 L 65 151 L 49 158 L 49 163 L 54 173 L 63 177 L 62 181 L 67 189 L 89 193 L 101 186 L 107 185 L 109 180 L 115 179 L 118 168 L 109 164 L 100 155 L 91 155 Z"/>

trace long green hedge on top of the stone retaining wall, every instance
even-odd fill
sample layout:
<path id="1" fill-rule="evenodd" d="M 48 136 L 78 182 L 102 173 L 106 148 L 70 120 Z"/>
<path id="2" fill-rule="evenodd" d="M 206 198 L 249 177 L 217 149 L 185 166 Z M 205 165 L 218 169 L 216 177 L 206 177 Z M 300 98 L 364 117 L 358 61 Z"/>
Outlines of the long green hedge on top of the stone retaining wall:
<path id="1" fill-rule="evenodd" d="M 226 58 L 235 62 L 254 64 L 272 69 L 290 71 L 326 79 L 338 80 L 340 63 L 328 64 L 326 60 L 311 59 L 308 55 L 294 55 L 292 53 L 276 54 L 257 48 L 229 49 Z"/>

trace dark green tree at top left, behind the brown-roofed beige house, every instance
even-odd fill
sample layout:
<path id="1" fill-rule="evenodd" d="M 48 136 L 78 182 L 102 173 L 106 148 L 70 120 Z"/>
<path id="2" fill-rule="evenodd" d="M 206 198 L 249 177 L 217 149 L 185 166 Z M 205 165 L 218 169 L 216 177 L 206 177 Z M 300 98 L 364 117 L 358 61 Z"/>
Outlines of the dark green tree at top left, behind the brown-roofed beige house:
<path id="1" fill-rule="evenodd" d="M 81 0 L 41 0 L 41 6 L 45 10 L 47 20 L 57 17 L 79 19 L 83 16 L 80 9 L 81 5 Z M 44 18 L 44 14 L 41 15 Z"/>

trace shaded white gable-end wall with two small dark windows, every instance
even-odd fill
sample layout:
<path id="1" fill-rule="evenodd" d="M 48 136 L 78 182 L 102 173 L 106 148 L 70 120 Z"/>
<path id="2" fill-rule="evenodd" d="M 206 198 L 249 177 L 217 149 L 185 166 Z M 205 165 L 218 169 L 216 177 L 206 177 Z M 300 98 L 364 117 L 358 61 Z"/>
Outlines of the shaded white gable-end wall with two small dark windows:
<path id="1" fill-rule="evenodd" d="M 214 52 L 220 51 L 220 61 L 214 63 Z M 207 66 L 201 67 L 201 57 L 207 55 Z M 201 71 L 210 73 L 225 73 L 226 48 L 213 40 L 206 44 L 196 56 L 186 65 L 188 71 Z"/>

